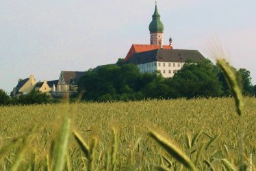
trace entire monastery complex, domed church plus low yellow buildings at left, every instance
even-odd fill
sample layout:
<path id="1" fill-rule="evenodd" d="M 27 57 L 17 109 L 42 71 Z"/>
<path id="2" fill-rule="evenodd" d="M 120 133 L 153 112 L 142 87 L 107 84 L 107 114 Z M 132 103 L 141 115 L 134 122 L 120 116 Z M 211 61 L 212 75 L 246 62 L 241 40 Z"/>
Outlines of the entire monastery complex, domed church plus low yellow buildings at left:
<path id="1" fill-rule="evenodd" d="M 158 71 L 163 77 L 173 77 L 188 60 L 196 63 L 205 58 L 196 50 L 173 49 L 172 38 L 169 38 L 168 45 L 164 45 L 164 24 L 157 3 L 149 31 L 150 44 L 132 44 L 125 57 L 125 63 L 136 64 L 141 73 Z M 34 75 L 30 75 L 27 79 L 18 79 L 11 96 L 27 94 L 32 90 L 47 92 L 55 97 L 73 95 L 77 92 L 79 78 L 85 74 L 86 71 L 61 71 L 59 79 L 43 82 L 36 82 Z"/>

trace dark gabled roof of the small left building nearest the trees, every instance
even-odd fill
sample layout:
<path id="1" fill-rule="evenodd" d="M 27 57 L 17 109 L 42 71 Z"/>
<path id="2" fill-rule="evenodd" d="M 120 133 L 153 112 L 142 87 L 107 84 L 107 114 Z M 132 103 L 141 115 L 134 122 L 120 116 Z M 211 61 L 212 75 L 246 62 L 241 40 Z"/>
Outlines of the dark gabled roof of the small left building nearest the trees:
<path id="1" fill-rule="evenodd" d="M 86 72 L 81 71 L 62 71 L 62 77 L 64 78 L 64 81 L 66 84 L 77 84 L 77 81 L 80 79 L 80 77 L 84 76 Z"/>

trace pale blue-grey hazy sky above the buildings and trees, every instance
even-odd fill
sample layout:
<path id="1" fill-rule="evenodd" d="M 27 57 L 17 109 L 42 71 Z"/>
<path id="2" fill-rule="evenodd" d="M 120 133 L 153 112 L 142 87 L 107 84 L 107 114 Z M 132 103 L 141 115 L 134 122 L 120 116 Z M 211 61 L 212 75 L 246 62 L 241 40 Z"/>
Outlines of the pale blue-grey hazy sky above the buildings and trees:
<path id="1" fill-rule="evenodd" d="M 209 55 L 218 39 L 235 68 L 256 84 L 255 0 L 158 0 L 164 44 Z M 10 93 L 34 75 L 59 79 L 125 57 L 131 44 L 149 44 L 155 0 L 0 0 L 0 88 Z"/>

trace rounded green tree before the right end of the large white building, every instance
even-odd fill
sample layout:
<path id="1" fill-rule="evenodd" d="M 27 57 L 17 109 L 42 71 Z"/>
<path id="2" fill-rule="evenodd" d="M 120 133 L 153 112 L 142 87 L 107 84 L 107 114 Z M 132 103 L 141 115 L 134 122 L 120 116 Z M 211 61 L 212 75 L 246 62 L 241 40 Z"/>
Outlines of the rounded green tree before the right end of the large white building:
<path id="1" fill-rule="evenodd" d="M 176 94 L 193 98 L 197 96 L 220 96 L 222 85 L 217 77 L 218 68 L 209 60 L 197 64 L 186 63 L 174 75 L 172 86 Z"/>

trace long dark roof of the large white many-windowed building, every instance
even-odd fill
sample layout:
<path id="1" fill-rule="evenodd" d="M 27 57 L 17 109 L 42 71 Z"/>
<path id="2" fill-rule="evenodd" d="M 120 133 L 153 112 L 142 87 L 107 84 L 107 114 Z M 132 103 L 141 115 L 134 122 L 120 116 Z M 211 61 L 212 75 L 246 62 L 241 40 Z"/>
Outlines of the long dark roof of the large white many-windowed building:
<path id="1" fill-rule="evenodd" d="M 205 59 L 203 55 L 197 50 L 183 50 L 183 49 L 155 49 L 153 51 L 146 51 L 141 53 L 133 53 L 127 63 L 144 64 L 149 62 L 199 62 Z"/>

